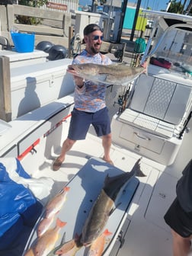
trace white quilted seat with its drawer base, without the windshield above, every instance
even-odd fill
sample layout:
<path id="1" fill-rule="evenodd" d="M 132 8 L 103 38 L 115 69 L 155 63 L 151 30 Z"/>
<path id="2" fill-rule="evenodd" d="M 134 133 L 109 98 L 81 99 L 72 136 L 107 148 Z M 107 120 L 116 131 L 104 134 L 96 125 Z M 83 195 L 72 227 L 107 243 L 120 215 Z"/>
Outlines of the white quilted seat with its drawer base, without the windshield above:
<path id="1" fill-rule="evenodd" d="M 150 67 L 150 66 L 149 66 Z M 152 66 L 134 82 L 130 103 L 112 120 L 114 142 L 171 165 L 192 105 L 191 80 Z"/>

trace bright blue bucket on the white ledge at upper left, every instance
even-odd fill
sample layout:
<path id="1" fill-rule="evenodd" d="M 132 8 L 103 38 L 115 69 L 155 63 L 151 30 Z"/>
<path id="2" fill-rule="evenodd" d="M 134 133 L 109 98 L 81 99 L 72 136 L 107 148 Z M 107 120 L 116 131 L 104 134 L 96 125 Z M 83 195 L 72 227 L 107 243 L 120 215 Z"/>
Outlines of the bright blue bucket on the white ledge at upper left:
<path id="1" fill-rule="evenodd" d="M 34 34 L 11 33 L 16 52 L 31 53 L 34 51 Z"/>

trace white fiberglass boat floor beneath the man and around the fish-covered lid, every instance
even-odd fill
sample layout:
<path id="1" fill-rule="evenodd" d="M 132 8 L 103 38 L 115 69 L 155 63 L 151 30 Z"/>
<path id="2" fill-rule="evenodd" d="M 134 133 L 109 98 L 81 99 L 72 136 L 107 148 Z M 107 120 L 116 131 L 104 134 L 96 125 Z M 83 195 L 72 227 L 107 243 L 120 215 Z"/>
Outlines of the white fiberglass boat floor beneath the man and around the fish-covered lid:
<path id="1" fill-rule="evenodd" d="M 181 171 L 190 159 L 190 152 L 186 150 L 190 147 L 190 141 L 191 134 L 188 133 L 174 165 L 165 167 L 147 158 L 142 158 L 141 170 L 146 177 L 139 178 L 139 187 L 133 197 L 126 224 L 123 227 L 124 245 L 120 248 L 118 255 L 171 255 L 171 232 L 165 224 L 163 216 L 174 199 L 174 187 L 181 176 Z M 52 171 L 53 159 L 58 154 L 59 149 L 56 149 L 56 152 L 52 154 L 53 158 L 44 158 L 40 169 L 34 173 L 35 178 L 46 176 L 56 181 L 53 186 L 53 194 L 58 192 L 85 165 L 89 158 L 103 156 L 101 139 L 94 136 L 91 127 L 87 138 L 76 142 L 66 155 L 66 160 L 60 170 Z M 130 171 L 139 155 L 112 145 L 111 158 L 117 168 Z M 27 165 L 27 158 L 22 163 Z M 117 245 L 114 245 L 110 255 L 116 255 L 116 250 Z"/>

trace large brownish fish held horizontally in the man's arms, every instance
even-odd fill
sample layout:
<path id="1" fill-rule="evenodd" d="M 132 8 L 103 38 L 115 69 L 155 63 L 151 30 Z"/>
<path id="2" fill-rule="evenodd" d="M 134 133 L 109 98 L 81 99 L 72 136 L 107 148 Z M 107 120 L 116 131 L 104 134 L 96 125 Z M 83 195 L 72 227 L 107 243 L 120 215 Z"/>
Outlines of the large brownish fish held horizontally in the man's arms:
<path id="1" fill-rule="evenodd" d="M 125 85 L 133 81 L 146 69 L 142 66 L 133 68 L 128 64 L 100 65 L 93 63 L 69 65 L 67 72 L 86 80 L 107 85 Z"/>

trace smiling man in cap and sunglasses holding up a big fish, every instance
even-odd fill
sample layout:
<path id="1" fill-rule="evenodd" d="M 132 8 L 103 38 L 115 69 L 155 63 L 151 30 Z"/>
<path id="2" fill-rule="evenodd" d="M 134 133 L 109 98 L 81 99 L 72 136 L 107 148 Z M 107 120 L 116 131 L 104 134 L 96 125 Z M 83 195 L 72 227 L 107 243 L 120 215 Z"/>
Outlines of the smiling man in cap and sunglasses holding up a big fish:
<path id="1" fill-rule="evenodd" d="M 102 65 L 111 64 L 111 60 L 100 53 L 103 32 L 97 24 L 88 24 L 84 29 L 83 42 L 86 43 L 82 50 L 73 60 L 73 64 L 95 63 Z M 104 101 L 106 85 L 74 76 L 75 80 L 75 106 L 72 110 L 71 123 L 67 139 L 62 143 L 60 155 L 53 162 L 53 171 L 59 170 L 66 157 L 66 152 L 72 149 L 79 139 L 85 139 L 89 126 L 92 124 L 97 136 L 102 136 L 104 147 L 104 161 L 113 165 L 110 159 L 111 132 L 110 118 Z"/>

